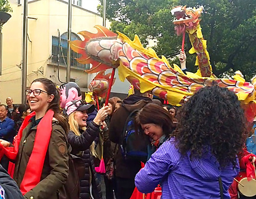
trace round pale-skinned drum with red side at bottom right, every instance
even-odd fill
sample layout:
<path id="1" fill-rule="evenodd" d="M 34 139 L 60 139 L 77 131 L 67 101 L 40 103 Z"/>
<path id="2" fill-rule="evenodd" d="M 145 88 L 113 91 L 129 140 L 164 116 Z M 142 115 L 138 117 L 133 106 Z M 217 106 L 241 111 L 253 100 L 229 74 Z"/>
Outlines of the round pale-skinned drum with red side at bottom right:
<path id="1" fill-rule="evenodd" d="M 252 179 L 250 181 L 247 180 L 246 172 L 240 171 L 238 177 L 238 190 L 242 195 L 247 197 L 256 196 L 256 180 Z"/>

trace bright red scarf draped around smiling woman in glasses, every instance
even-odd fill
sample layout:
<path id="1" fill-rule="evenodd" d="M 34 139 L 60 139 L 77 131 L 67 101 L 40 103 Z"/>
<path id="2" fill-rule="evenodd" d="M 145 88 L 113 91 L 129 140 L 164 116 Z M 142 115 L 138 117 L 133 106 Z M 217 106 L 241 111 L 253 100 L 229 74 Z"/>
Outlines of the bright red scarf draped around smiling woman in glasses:
<path id="1" fill-rule="evenodd" d="M 36 137 L 34 147 L 29 157 L 26 171 L 21 182 L 21 192 L 26 194 L 32 188 L 34 188 L 39 182 L 42 175 L 43 163 L 45 162 L 46 152 L 48 150 L 48 145 L 52 133 L 52 118 L 54 112 L 52 110 L 47 111 L 46 115 L 42 118 L 37 126 Z M 32 112 L 23 121 L 21 128 L 19 128 L 18 135 L 16 137 L 16 142 L 14 142 L 14 147 L 3 147 L 0 145 L 0 159 L 3 155 L 6 155 L 11 160 L 16 160 L 18 154 L 19 142 L 22 138 L 22 132 L 24 128 L 30 122 L 29 120 L 35 116 L 36 113 Z M 13 175 L 14 165 L 9 165 L 8 172 Z"/>

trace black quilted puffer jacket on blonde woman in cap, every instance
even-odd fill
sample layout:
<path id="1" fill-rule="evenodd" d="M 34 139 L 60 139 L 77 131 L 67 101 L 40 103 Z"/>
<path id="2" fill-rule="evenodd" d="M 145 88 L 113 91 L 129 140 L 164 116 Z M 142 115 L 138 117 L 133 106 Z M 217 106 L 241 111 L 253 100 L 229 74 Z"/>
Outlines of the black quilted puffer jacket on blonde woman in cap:
<path id="1" fill-rule="evenodd" d="M 90 199 L 90 175 L 93 197 L 95 199 L 102 198 L 100 183 L 97 180 L 93 158 L 90 154 L 90 146 L 99 134 L 99 127 L 96 123 L 90 122 L 85 131 L 80 130 L 81 136 L 75 135 L 72 131 L 67 135 L 68 142 L 72 147 L 71 154 L 80 156 L 85 163 L 85 176 L 80 181 L 81 199 Z"/>

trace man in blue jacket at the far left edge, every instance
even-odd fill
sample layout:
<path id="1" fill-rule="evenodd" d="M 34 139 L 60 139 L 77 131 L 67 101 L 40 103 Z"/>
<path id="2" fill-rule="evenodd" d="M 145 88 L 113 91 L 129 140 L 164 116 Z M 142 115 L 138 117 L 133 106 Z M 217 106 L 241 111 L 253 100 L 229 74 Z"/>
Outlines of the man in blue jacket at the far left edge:
<path id="1" fill-rule="evenodd" d="M 7 117 L 8 107 L 6 105 L 0 105 L 0 138 L 8 142 L 13 141 L 14 137 L 14 121 Z M 1 165 L 8 169 L 7 157 L 3 157 Z"/>

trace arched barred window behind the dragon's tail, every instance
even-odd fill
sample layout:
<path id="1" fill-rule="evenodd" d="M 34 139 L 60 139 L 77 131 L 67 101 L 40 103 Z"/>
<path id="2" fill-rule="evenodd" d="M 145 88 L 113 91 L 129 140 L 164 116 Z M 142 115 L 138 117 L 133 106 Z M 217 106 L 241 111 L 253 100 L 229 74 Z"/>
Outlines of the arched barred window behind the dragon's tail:
<path id="1" fill-rule="evenodd" d="M 71 33 L 71 41 L 80 40 L 80 37 Z M 58 44 L 60 42 L 60 48 Z M 63 33 L 60 39 L 56 36 L 52 36 L 52 63 L 58 63 L 58 54 L 60 54 L 60 65 L 67 66 L 67 32 Z M 72 67 L 81 68 L 81 69 L 89 69 L 90 64 L 81 64 L 76 61 L 76 58 L 81 57 L 81 54 L 72 51 L 71 49 L 71 57 L 70 64 Z"/>

